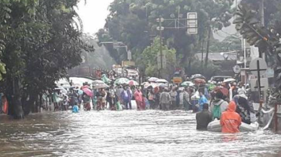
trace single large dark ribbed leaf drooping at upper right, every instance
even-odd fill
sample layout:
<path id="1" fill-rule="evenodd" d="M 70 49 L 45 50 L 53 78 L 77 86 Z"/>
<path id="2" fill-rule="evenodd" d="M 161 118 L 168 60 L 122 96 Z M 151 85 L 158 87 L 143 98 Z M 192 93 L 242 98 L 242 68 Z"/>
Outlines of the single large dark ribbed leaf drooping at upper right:
<path id="1" fill-rule="evenodd" d="M 257 45 L 261 41 L 267 40 L 266 34 L 260 32 L 261 26 L 256 19 L 256 12 L 247 5 L 238 5 L 233 24 L 236 25 L 236 30 L 250 45 Z"/>

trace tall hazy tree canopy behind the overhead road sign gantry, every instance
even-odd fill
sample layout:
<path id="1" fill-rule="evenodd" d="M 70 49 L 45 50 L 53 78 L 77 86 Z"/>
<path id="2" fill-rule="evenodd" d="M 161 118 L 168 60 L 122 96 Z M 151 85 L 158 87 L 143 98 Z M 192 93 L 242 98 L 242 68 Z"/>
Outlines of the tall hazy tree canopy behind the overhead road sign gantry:
<path id="1" fill-rule="evenodd" d="M 110 15 L 105 26 L 108 32 L 100 31 L 98 39 L 105 42 L 112 37 L 113 40 L 128 45 L 133 54 L 141 53 L 150 45 L 150 35 L 158 34 L 157 18 L 186 18 L 187 13 L 197 12 L 199 35 L 188 35 L 186 29 L 163 31 L 164 43 L 176 50 L 177 58 L 181 58 L 180 62 L 184 64 L 197 51 L 198 43 L 206 38 L 206 28 L 220 29 L 230 25 L 228 20 L 232 17 L 232 4 L 232 0 L 116 0 L 110 6 Z M 118 60 L 119 56 L 122 55 L 113 57 Z"/>

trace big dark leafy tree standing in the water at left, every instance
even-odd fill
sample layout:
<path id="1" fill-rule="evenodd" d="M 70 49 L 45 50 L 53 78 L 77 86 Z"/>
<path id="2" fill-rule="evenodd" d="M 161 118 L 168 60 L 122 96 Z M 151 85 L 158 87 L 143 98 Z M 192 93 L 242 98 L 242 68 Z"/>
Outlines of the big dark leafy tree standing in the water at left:
<path id="1" fill-rule="evenodd" d="M 9 16 L 4 26 L 9 29 L 4 32 L 1 56 L 7 65 L 3 85 L 9 114 L 23 118 L 24 111 L 37 111 L 44 90 L 80 64 L 81 50 L 87 46 L 79 38 L 81 26 L 74 21 L 78 0 L 5 2 Z"/>

